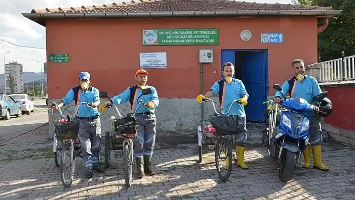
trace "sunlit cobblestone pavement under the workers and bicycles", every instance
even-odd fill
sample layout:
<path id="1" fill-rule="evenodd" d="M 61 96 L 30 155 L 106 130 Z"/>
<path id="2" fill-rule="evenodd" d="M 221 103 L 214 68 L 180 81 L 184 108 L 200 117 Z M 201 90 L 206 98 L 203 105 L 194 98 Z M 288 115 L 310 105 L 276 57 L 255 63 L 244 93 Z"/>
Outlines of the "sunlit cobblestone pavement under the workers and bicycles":
<path id="1" fill-rule="evenodd" d="M 44 126 L 0 146 L 0 199 L 355 199 L 354 149 L 325 141 L 323 162 L 330 170 L 297 168 L 283 183 L 276 163 L 260 145 L 258 126 L 249 125 L 245 160 L 250 169 L 234 165 L 226 182 L 219 180 L 214 153 L 207 147 L 203 162 L 197 163 L 196 137 L 161 133 L 152 160 L 158 175 L 137 179 L 134 174 L 128 189 L 122 158 L 112 154 L 111 167 L 91 180 L 84 178 L 78 158 L 75 180 L 65 188 Z"/>

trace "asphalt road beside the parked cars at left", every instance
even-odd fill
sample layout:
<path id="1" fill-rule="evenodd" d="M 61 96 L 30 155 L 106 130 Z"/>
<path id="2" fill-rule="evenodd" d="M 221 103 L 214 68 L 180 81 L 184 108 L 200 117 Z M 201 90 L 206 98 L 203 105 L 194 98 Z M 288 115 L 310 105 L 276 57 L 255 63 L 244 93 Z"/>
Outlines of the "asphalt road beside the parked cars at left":
<path id="1" fill-rule="evenodd" d="M 34 104 L 35 112 L 30 115 L 23 114 L 20 118 L 11 116 L 8 121 L 0 119 L 0 142 L 48 122 L 46 101 L 35 100 Z"/>

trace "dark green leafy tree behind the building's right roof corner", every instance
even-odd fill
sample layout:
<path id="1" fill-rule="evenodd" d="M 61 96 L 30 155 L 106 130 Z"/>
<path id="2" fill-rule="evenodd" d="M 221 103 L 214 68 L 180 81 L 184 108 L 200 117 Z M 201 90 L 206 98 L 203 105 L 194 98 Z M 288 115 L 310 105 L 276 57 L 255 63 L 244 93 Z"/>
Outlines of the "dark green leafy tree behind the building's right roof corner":
<path id="1" fill-rule="evenodd" d="M 353 0 L 292 0 L 294 4 L 332 7 L 342 14 L 329 19 L 328 27 L 318 34 L 318 56 L 322 61 L 355 54 L 355 4 Z"/>

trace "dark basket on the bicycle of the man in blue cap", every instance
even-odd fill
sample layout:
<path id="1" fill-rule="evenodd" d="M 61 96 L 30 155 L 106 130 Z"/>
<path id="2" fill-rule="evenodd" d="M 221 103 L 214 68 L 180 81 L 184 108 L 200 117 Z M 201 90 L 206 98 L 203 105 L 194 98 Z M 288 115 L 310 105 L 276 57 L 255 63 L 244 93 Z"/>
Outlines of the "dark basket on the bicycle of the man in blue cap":
<path id="1" fill-rule="evenodd" d="M 58 139 L 76 139 L 79 134 L 79 120 L 59 120 L 55 123 L 55 133 Z"/>

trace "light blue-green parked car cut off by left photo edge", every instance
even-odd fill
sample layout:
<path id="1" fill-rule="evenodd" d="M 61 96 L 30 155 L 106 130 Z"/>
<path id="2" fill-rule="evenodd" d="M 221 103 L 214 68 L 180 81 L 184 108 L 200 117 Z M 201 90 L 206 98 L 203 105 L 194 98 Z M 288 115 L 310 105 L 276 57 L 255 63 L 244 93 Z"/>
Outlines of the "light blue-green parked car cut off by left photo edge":
<path id="1" fill-rule="evenodd" d="M 9 95 L 0 95 L 0 117 L 9 120 L 11 115 L 21 117 L 22 110 L 20 104 Z"/>

